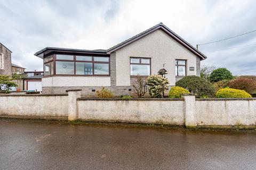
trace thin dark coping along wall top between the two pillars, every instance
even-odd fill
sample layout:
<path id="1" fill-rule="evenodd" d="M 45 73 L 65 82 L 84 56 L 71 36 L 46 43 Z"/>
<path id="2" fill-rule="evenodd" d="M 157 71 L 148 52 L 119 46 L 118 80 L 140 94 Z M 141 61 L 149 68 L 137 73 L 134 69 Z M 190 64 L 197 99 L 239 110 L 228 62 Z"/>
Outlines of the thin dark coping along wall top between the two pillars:
<path id="1" fill-rule="evenodd" d="M 131 99 L 122 99 L 122 98 L 88 98 L 81 97 L 77 100 L 133 100 L 133 101 L 184 101 L 184 99 L 180 98 L 131 98 Z"/>

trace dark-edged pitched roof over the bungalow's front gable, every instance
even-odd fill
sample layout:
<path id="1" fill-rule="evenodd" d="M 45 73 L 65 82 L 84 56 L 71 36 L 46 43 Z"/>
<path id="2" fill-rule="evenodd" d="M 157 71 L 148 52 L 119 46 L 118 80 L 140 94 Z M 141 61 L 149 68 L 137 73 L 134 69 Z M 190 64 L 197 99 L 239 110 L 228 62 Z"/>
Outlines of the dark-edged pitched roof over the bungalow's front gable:
<path id="1" fill-rule="evenodd" d="M 178 43 L 180 43 L 181 45 L 186 47 L 188 50 L 190 50 L 190 52 L 194 53 L 196 56 L 200 57 L 202 60 L 205 60 L 205 58 L 207 58 L 203 53 L 199 52 L 199 50 L 197 50 L 195 47 L 193 47 L 191 44 L 189 44 L 183 38 L 178 36 L 171 29 L 166 27 L 166 25 L 164 25 L 162 22 L 160 22 L 159 24 L 155 25 L 154 27 L 151 27 L 151 28 L 147 29 L 146 31 L 143 31 L 143 32 L 139 33 L 138 35 L 133 36 L 132 38 L 129 38 L 129 39 L 123 41 L 122 43 L 119 43 L 119 44 L 117 44 L 117 45 L 107 49 L 107 53 L 114 52 L 115 50 L 117 50 L 119 48 L 122 48 L 122 47 L 132 43 L 133 41 L 138 40 L 138 39 L 148 35 L 149 33 L 153 32 L 153 31 L 155 31 L 157 29 L 162 29 L 164 32 L 166 32 L 173 39 L 178 41 Z"/>

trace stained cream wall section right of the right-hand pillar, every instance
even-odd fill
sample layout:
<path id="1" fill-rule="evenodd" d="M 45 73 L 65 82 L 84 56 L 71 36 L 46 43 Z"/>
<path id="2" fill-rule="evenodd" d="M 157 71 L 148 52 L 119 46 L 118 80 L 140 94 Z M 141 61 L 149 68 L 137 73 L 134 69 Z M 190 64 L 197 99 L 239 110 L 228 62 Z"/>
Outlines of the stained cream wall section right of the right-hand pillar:
<path id="1" fill-rule="evenodd" d="M 254 126 L 256 99 L 197 99 L 197 126 Z"/>

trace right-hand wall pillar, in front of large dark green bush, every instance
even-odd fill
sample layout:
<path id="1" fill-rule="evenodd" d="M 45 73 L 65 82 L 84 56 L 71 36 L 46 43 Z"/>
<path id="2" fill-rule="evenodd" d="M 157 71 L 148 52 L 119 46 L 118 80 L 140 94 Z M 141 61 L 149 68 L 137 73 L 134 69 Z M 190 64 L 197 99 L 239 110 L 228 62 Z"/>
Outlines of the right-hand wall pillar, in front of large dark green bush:
<path id="1" fill-rule="evenodd" d="M 196 97 L 195 95 L 182 95 L 185 101 L 184 124 L 186 128 L 196 128 Z"/>

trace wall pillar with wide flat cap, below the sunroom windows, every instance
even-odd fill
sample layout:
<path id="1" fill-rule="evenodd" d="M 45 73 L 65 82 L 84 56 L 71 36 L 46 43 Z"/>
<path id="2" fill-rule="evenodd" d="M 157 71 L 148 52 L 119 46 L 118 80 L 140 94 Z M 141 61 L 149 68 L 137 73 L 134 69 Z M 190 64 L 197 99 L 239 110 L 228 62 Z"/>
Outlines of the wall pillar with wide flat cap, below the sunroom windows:
<path id="1" fill-rule="evenodd" d="M 68 121 L 77 120 L 77 99 L 81 98 L 81 89 L 66 90 L 68 92 Z"/>

